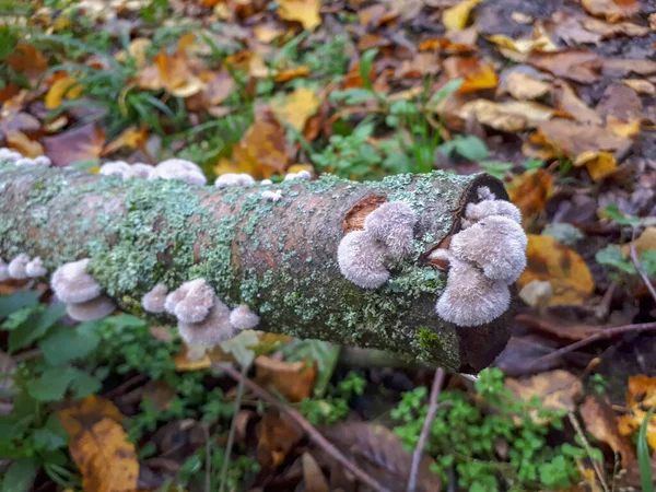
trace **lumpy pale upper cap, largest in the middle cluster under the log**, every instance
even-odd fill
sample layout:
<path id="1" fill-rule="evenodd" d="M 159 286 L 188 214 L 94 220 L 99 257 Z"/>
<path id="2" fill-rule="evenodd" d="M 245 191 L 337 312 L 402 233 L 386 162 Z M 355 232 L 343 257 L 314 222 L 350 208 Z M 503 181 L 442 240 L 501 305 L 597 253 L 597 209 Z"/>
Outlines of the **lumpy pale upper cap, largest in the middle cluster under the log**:
<path id="1" fill-rule="evenodd" d="M 169 293 L 164 307 L 178 321 L 200 323 L 210 313 L 214 297 L 214 289 L 204 279 L 195 279 Z"/>

